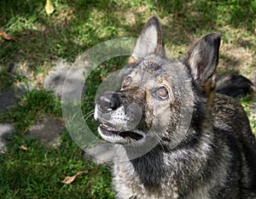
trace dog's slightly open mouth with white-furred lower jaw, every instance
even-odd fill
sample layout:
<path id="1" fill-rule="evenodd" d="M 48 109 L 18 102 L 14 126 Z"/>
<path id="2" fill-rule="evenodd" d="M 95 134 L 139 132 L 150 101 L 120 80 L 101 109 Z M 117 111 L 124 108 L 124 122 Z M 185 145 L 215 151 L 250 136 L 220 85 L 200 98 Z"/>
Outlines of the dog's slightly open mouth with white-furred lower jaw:
<path id="1" fill-rule="evenodd" d="M 137 134 L 131 131 L 121 131 L 120 127 L 108 122 L 100 124 L 99 133 L 102 135 L 103 139 L 119 144 L 132 143 L 143 139 L 142 134 Z"/>

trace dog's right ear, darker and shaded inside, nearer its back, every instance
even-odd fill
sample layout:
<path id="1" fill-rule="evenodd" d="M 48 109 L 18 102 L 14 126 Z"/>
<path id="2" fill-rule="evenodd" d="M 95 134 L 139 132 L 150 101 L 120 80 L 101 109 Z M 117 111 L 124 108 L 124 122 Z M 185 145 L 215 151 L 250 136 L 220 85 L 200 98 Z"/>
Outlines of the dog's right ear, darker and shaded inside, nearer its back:
<path id="1" fill-rule="evenodd" d="M 207 34 L 189 48 L 182 59 L 185 65 L 189 65 L 195 82 L 204 89 L 215 87 L 220 37 L 218 32 Z"/>

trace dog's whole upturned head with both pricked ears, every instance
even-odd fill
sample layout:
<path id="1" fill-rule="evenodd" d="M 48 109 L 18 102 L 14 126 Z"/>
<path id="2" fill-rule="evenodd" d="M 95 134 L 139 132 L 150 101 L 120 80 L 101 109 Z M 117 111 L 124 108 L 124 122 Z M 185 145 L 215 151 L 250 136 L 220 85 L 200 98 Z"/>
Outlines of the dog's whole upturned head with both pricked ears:
<path id="1" fill-rule="evenodd" d="M 128 144 L 154 134 L 160 142 L 180 141 L 195 114 L 198 97 L 210 98 L 218 65 L 220 35 L 208 34 L 183 59 L 166 59 L 160 21 L 153 16 L 137 39 L 118 91 L 96 99 L 102 138 Z M 184 119 L 188 117 L 188 120 Z M 188 122 L 189 121 L 189 122 Z"/>

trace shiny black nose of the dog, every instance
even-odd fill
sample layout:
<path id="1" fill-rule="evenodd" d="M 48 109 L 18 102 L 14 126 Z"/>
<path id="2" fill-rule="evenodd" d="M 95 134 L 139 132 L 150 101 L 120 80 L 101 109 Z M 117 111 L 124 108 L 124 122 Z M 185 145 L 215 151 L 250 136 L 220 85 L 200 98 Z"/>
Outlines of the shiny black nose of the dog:
<path id="1" fill-rule="evenodd" d="M 99 109 L 102 112 L 114 111 L 121 105 L 121 101 L 119 99 L 119 94 L 115 93 L 107 93 L 102 94 L 98 100 L 97 104 Z"/>

